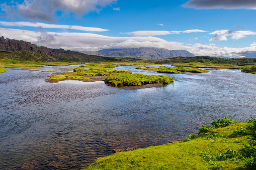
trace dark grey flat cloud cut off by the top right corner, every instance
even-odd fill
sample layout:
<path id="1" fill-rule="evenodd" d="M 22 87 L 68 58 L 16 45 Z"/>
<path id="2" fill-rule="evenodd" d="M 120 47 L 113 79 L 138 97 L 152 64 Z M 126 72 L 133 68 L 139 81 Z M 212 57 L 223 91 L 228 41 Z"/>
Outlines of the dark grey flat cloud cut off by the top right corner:
<path id="1" fill-rule="evenodd" d="M 194 9 L 250 9 L 256 10 L 254 0 L 190 0 L 182 5 L 186 8 Z"/>

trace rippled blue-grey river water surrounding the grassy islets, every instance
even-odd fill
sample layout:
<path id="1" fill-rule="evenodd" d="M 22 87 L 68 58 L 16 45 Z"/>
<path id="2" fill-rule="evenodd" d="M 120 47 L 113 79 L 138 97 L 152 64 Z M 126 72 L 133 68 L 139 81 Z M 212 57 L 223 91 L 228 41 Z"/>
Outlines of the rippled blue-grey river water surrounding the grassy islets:
<path id="1" fill-rule="evenodd" d="M 0 169 L 80 169 L 112 149 L 182 140 L 225 116 L 256 116 L 256 75 L 241 70 L 162 74 L 174 83 L 125 90 L 104 82 L 48 84 L 51 73 L 41 71 L 49 69 L 56 68 L 0 74 Z"/>

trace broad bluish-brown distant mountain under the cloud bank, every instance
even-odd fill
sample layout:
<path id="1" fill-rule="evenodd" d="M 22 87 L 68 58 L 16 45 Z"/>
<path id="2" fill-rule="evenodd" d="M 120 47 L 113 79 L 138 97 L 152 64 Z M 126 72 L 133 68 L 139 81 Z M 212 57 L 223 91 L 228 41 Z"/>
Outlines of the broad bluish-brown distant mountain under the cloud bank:
<path id="1" fill-rule="evenodd" d="M 170 57 L 195 57 L 186 50 L 167 50 L 162 48 L 125 48 L 125 49 L 104 49 L 97 52 L 82 51 L 84 54 L 100 55 L 106 57 L 132 57 L 136 59 L 152 60 L 166 59 Z"/>

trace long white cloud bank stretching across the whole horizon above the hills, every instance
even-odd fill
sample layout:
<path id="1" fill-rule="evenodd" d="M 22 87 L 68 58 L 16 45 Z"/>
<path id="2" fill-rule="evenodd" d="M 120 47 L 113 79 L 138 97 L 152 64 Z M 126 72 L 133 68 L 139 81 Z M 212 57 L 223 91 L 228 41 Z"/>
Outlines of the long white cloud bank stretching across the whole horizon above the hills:
<path id="1" fill-rule="evenodd" d="M 41 28 L 38 28 L 39 30 Z M 0 36 L 5 38 L 24 40 L 46 46 L 49 48 L 63 48 L 65 50 L 90 50 L 98 51 L 109 48 L 139 48 L 139 47 L 158 47 L 169 50 L 188 50 L 196 56 L 228 56 L 244 57 L 256 54 L 256 43 L 249 47 L 230 48 L 217 47 L 215 44 L 203 45 L 184 45 L 179 42 L 169 42 L 156 37 L 108 37 L 89 33 L 54 33 L 33 32 L 28 30 L 4 29 L 0 28 Z"/>

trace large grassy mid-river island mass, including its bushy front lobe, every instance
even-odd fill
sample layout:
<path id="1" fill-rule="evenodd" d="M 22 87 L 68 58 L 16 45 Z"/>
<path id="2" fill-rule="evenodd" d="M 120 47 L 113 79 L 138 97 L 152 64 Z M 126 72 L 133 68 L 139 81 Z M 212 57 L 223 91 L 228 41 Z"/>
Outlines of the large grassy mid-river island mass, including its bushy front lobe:
<path id="1" fill-rule="evenodd" d="M 128 63 L 125 63 L 128 64 Z M 129 63 L 129 65 L 135 63 Z M 137 63 L 136 63 L 137 64 Z M 142 64 L 142 63 L 141 63 Z M 145 63 L 143 63 L 145 64 Z M 134 75 L 131 71 L 114 69 L 124 63 L 86 64 L 74 69 L 74 72 L 52 74 L 47 82 L 59 82 L 62 80 L 102 81 L 112 86 L 141 86 L 144 84 L 162 83 L 174 81 L 174 77 Z M 108 76 L 108 77 L 106 77 Z"/>

